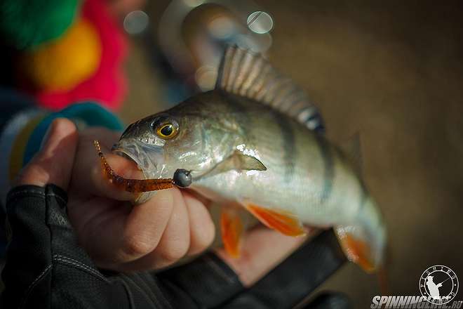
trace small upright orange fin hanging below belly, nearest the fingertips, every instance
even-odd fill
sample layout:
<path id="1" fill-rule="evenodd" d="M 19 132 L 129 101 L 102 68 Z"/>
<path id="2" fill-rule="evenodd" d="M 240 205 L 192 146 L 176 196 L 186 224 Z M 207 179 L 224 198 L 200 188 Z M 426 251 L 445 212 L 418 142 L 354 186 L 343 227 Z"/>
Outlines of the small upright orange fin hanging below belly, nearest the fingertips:
<path id="1" fill-rule="evenodd" d="M 225 251 L 232 258 L 239 258 L 243 223 L 241 223 L 241 218 L 238 216 L 236 209 L 222 209 L 220 228 Z"/>

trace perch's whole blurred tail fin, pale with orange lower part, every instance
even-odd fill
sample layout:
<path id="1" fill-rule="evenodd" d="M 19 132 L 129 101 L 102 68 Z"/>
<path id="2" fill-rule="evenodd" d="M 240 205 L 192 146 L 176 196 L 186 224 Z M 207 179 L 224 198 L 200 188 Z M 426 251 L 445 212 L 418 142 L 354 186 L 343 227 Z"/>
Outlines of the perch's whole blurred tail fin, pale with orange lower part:
<path id="1" fill-rule="evenodd" d="M 361 221 L 335 227 L 347 258 L 365 272 L 377 272 L 384 265 L 386 228 L 372 199 L 368 198 L 361 211 Z"/>

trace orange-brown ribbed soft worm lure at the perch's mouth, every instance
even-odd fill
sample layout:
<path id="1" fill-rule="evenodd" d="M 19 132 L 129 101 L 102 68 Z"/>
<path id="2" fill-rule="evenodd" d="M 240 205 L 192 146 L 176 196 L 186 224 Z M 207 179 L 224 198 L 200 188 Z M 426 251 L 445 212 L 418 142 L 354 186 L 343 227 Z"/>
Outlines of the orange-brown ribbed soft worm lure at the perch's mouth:
<path id="1" fill-rule="evenodd" d="M 101 159 L 101 165 L 103 168 L 103 172 L 105 173 L 105 176 L 109 179 L 109 182 L 115 185 L 117 188 L 133 193 L 173 188 L 174 181 L 171 178 L 129 179 L 119 176 L 113 171 L 111 166 L 109 166 L 105 158 L 105 155 L 103 155 L 103 153 L 101 152 L 101 147 L 98 140 L 93 140 L 93 145 L 95 145 L 95 149 L 97 150 L 98 156 Z"/>

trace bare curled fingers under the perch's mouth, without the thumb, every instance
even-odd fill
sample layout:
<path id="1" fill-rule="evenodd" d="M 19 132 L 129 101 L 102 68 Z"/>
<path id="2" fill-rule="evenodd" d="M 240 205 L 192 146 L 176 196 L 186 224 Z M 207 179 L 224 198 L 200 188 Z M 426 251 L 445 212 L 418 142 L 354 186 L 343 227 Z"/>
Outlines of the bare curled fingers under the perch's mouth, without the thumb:
<path id="1" fill-rule="evenodd" d="M 95 139 L 116 173 L 142 178 L 133 162 L 111 154 L 118 138 L 101 128 L 79 133 L 68 213 L 88 254 L 102 268 L 131 271 L 163 268 L 206 249 L 213 242 L 214 225 L 206 206 L 191 194 L 161 190 L 133 206 L 133 194 L 114 188 L 102 176 Z"/>

